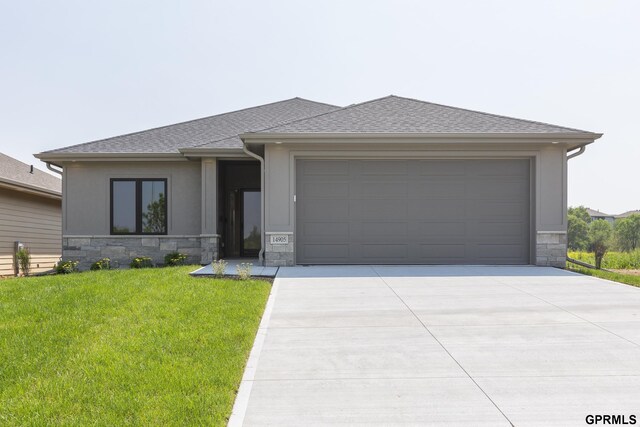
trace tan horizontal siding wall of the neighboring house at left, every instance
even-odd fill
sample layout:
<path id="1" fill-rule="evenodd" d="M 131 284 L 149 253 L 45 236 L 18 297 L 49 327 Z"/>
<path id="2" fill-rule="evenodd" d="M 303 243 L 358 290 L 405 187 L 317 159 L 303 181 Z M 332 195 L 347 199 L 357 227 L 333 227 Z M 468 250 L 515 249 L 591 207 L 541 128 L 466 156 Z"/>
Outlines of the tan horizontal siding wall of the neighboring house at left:
<path id="1" fill-rule="evenodd" d="M 50 270 L 62 252 L 60 200 L 0 188 L 0 276 L 13 275 L 13 245 L 31 251 L 33 273 Z"/>

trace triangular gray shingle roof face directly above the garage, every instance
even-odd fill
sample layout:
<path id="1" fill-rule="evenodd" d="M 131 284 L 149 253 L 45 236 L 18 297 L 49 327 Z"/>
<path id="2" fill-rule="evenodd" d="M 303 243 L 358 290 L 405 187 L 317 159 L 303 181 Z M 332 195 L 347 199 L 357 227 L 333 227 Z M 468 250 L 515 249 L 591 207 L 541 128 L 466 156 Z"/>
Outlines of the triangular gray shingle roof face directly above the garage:
<path id="1" fill-rule="evenodd" d="M 530 120 L 387 96 L 260 133 L 585 133 Z"/>

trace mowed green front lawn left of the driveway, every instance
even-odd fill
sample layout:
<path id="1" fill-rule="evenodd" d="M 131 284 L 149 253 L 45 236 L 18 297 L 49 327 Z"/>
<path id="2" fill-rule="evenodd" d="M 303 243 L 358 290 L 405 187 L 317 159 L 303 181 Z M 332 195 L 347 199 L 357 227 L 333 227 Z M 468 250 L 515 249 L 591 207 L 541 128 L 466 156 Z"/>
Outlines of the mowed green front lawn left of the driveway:
<path id="1" fill-rule="evenodd" d="M 0 425 L 224 425 L 269 294 L 191 267 L 0 281 Z"/>

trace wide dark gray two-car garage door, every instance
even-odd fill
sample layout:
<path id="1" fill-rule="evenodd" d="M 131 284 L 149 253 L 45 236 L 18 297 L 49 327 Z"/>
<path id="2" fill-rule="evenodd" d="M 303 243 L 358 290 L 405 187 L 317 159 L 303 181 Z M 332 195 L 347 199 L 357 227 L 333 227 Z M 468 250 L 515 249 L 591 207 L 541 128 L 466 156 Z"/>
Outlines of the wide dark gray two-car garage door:
<path id="1" fill-rule="evenodd" d="M 298 264 L 529 264 L 530 166 L 296 161 Z"/>

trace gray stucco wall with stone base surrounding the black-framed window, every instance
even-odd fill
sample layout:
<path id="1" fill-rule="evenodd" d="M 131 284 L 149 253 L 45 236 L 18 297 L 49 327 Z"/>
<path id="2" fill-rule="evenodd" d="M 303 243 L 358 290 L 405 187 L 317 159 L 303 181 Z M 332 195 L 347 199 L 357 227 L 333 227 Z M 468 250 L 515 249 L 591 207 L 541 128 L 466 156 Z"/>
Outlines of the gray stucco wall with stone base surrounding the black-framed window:
<path id="1" fill-rule="evenodd" d="M 162 264 L 175 251 L 186 254 L 189 263 L 217 259 L 215 165 L 215 159 L 64 164 L 63 259 L 80 261 L 82 270 L 101 258 L 118 267 L 138 256 Z M 167 235 L 110 235 L 111 178 L 167 179 Z"/>

